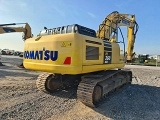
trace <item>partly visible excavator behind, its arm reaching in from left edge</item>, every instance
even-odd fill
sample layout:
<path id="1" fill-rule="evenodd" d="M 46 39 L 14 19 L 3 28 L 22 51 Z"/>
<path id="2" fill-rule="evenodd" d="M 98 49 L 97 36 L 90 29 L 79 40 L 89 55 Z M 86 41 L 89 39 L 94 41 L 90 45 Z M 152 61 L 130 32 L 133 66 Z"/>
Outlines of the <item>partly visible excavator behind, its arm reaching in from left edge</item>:
<path id="1" fill-rule="evenodd" d="M 25 24 L 24 27 L 10 27 L 13 25 Z M 23 40 L 25 41 L 28 38 L 32 37 L 31 27 L 28 23 L 10 23 L 10 24 L 0 24 L 0 34 L 4 33 L 13 33 L 13 32 L 23 32 Z M 3 64 L 0 61 L 0 65 Z M 19 67 L 23 68 L 23 63 L 19 65 Z"/>

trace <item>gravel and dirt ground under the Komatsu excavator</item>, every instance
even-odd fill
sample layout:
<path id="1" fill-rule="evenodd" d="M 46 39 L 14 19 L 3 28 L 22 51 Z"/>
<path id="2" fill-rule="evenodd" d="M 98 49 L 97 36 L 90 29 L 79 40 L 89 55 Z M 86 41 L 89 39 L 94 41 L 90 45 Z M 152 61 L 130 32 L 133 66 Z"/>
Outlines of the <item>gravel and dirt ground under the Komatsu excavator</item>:
<path id="1" fill-rule="evenodd" d="M 76 100 L 76 88 L 46 94 L 36 89 L 41 72 L 18 68 L 22 59 L 2 56 L 0 120 L 160 120 L 160 68 L 130 66 L 133 82 L 98 108 Z"/>

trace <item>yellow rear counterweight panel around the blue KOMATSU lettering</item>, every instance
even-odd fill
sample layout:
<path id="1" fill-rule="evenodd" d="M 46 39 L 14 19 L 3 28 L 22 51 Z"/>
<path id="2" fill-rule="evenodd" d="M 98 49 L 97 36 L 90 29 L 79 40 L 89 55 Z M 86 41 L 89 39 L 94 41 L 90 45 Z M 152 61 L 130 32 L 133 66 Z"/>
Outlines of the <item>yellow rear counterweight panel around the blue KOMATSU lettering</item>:
<path id="1" fill-rule="evenodd" d="M 24 51 L 37 51 L 44 48 L 45 51 L 58 51 L 58 59 L 55 61 L 24 59 L 24 66 L 28 69 L 54 73 L 67 73 L 67 71 L 80 73 L 82 71 L 82 41 L 77 39 L 79 39 L 78 35 L 71 33 L 42 36 L 38 41 L 35 41 L 35 38 L 27 40 Z M 62 46 L 63 43 L 65 47 Z M 66 57 L 71 57 L 70 65 L 64 65 Z"/>

